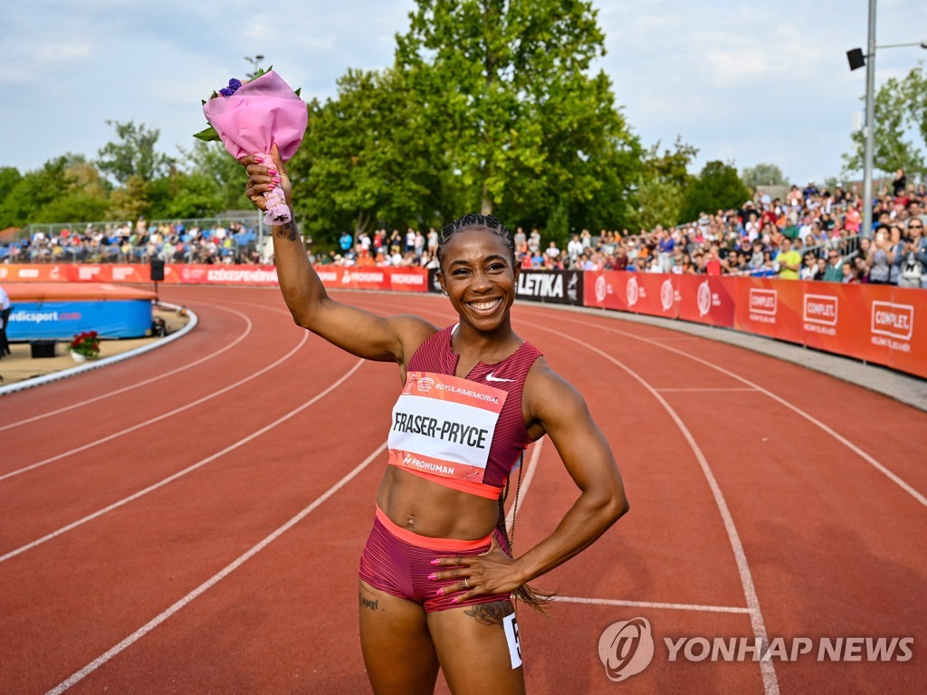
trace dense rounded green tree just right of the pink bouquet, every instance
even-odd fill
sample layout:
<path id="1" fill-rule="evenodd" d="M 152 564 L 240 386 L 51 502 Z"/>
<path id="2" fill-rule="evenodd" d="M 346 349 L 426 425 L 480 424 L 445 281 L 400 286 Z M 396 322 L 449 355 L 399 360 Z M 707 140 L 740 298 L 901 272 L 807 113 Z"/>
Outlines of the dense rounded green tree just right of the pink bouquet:
<path id="1" fill-rule="evenodd" d="M 438 145 L 421 127 L 396 70 L 349 70 L 338 95 L 309 105 L 311 133 L 288 170 L 297 212 L 316 241 L 343 230 L 430 225 L 453 194 L 433 165 Z"/>

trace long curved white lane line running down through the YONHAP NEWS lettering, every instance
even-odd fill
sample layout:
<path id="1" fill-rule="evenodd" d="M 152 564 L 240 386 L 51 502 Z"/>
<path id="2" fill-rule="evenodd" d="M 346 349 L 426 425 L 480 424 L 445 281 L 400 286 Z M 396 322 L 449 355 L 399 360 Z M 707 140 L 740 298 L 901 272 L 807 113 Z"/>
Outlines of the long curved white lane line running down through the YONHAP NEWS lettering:
<path id="1" fill-rule="evenodd" d="M 695 441 L 695 437 L 692 436 L 692 432 L 689 431 L 686 423 L 682 422 L 679 414 L 673 410 L 672 406 L 670 406 L 667 402 L 667 399 L 663 398 L 663 396 L 661 396 L 652 385 L 648 384 L 639 373 L 636 373 L 624 363 L 616 360 L 607 352 L 603 352 L 603 350 L 600 350 L 598 347 L 592 346 L 589 343 L 579 340 L 578 338 L 572 337 L 571 335 L 565 335 L 556 329 L 547 328 L 546 326 L 542 326 L 538 323 L 524 323 L 532 326 L 533 328 L 538 328 L 542 331 L 560 335 L 565 340 L 569 340 L 579 346 L 586 347 L 591 352 L 594 352 L 597 355 L 603 357 L 603 359 L 612 362 L 617 367 L 628 373 L 644 388 L 650 391 L 651 395 L 653 395 L 657 402 L 659 402 L 660 405 L 663 406 L 664 410 L 667 411 L 669 417 L 672 418 L 673 422 L 676 423 L 676 426 L 679 427 L 679 432 L 682 433 L 682 436 L 684 436 L 686 441 L 689 443 L 689 448 L 692 449 L 692 453 L 695 455 L 696 460 L 699 462 L 699 465 L 702 468 L 702 473 L 705 475 L 705 480 L 708 482 L 708 487 L 711 489 L 711 494 L 715 498 L 717 511 L 720 513 L 721 519 L 724 522 L 724 528 L 728 532 L 730 548 L 733 550 L 734 560 L 737 562 L 737 571 L 741 576 L 743 596 L 746 599 L 747 608 L 749 609 L 748 614 L 750 615 L 750 624 L 753 626 L 754 637 L 760 639 L 763 645 L 767 645 L 768 635 L 766 631 L 766 625 L 763 621 L 763 613 L 760 612 L 759 598 L 756 596 L 756 586 L 754 585 L 753 575 L 750 573 L 750 565 L 747 562 L 746 553 L 743 551 L 741 537 L 737 533 L 737 527 L 734 525 L 734 519 L 730 515 L 728 503 L 725 501 L 724 495 L 721 493 L 720 486 L 717 485 L 715 474 L 712 473 L 711 466 L 708 465 L 708 460 L 705 459 L 705 454 L 698 446 L 698 443 Z M 768 661 L 760 662 L 760 672 L 763 676 L 763 689 L 765 690 L 766 695 L 779 695 L 779 681 L 776 678 L 776 672 L 772 663 Z"/>

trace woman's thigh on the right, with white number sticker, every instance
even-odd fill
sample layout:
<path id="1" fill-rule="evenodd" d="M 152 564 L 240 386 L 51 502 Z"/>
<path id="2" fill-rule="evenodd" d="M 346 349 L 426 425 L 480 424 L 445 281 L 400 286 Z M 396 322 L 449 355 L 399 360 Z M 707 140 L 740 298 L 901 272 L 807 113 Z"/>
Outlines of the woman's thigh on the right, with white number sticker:
<path id="1" fill-rule="evenodd" d="M 428 613 L 438 661 L 454 695 L 525 692 L 513 613 L 508 600 Z M 515 667 L 513 660 L 518 663 Z"/>

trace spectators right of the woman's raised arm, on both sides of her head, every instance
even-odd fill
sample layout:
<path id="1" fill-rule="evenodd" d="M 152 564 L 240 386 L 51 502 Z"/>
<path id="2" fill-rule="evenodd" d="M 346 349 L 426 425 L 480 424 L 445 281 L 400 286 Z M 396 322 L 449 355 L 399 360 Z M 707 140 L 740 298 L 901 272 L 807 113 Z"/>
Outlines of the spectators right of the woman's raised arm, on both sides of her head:
<path id="1" fill-rule="evenodd" d="M 904 177 L 902 176 L 902 181 Z M 897 180 L 896 182 L 897 183 Z M 873 201 L 871 237 L 860 234 L 862 200 L 838 183 L 833 191 L 809 182 L 784 198 L 756 192 L 742 208 L 703 213 L 675 228 L 656 225 L 572 234 L 565 247 L 540 230 L 514 232 L 522 267 L 778 276 L 782 279 L 921 286 L 927 280 L 927 189 L 907 182 Z M 438 266 L 438 233 L 380 229 L 341 234 L 339 250 L 315 262 L 361 266 Z"/>

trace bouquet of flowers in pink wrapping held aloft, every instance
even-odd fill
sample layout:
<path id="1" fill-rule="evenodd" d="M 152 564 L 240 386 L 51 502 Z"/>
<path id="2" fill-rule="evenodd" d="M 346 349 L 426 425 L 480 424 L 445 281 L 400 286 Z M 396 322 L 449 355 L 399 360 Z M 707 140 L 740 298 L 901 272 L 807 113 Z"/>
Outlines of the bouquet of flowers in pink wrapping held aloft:
<path id="1" fill-rule="evenodd" d="M 271 146 L 277 145 L 280 157 L 287 161 L 296 154 L 309 122 L 306 103 L 273 69 L 260 72 L 251 82 L 229 80 L 219 94 L 213 92 L 210 100 L 203 102 L 203 114 L 211 127 L 196 137 L 222 140 L 235 159 L 260 155 L 271 161 Z M 265 224 L 290 221 L 280 186 L 266 199 Z"/>

